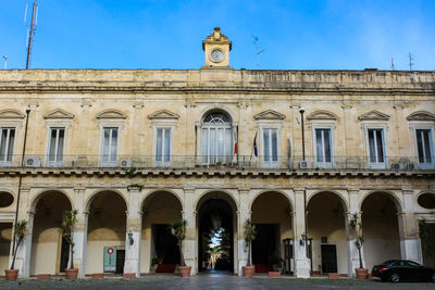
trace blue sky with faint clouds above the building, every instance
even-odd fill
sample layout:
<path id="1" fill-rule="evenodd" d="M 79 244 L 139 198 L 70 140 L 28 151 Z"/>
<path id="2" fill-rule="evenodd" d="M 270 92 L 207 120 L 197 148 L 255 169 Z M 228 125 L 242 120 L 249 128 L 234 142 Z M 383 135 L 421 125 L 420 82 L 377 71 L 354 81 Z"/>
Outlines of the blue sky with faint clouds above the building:
<path id="1" fill-rule="evenodd" d="M 0 54 L 24 68 L 33 1 L 0 0 Z M 220 26 L 231 65 L 256 70 L 435 70 L 435 0 L 40 0 L 33 68 L 199 68 Z M 3 67 L 1 59 L 0 67 Z"/>

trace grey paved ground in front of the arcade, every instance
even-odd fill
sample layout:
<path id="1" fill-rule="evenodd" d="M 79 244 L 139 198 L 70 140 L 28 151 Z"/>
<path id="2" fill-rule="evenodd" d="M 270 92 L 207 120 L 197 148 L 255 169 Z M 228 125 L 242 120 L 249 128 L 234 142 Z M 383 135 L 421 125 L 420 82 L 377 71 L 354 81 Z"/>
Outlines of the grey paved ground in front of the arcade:
<path id="1" fill-rule="evenodd" d="M 356 279 L 270 279 L 265 276 L 244 278 L 229 275 L 200 275 L 190 278 L 177 276 L 149 276 L 140 279 L 105 278 L 102 280 L 0 280 L 0 289 L 207 289 L 207 290 L 233 290 L 233 289 L 435 289 L 435 283 L 430 282 L 402 282 L 389 283 L 377 280 Z"/>

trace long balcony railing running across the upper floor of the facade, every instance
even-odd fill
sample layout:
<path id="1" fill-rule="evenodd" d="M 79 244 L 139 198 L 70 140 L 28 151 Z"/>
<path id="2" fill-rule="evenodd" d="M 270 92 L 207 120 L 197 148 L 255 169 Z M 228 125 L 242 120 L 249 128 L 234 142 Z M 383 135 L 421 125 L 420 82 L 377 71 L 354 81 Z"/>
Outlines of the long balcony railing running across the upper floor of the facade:
<path id="1" fill-rule="evenodd" d="M 0 168 L 165 168 L 165 169 L 262 169 L 262 171 L 393 171 L 413 172 L 435 169 L 434 159 L 368 156 L 334 156 L 331 162 L 320 161 L 313 156 L 201 156 L 172 155 L 157 157 L 153 155 L 10 155 L 0 161 Z"/>

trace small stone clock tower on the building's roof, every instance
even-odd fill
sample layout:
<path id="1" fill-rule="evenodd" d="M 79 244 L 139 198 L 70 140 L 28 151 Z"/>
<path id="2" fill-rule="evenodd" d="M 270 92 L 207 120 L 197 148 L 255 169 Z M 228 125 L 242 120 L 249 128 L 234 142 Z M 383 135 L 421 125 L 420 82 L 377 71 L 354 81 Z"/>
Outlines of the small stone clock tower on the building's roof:
<path id="1" fill-rule="evenodd" d="M 207 67 L 229 67 L 229 51 L 232 41 L 221 34 L 220 27 L 214 27 L 214 31 L 202 41 L 202 50 L 206 53 Z"/>

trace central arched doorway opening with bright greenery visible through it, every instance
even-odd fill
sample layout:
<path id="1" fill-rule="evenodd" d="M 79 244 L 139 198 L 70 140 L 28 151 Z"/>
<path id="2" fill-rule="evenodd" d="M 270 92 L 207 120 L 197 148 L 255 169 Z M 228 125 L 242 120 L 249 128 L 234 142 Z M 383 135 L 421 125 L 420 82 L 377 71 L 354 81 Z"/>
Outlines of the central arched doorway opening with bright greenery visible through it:
<path id="1" fill-rule="evenodd" d="M 234 273 L 237 228 L 234 201 L 226 193 L 211 192 L 202 197 L 197 207 L 198 270 Z"/>

